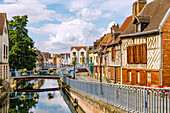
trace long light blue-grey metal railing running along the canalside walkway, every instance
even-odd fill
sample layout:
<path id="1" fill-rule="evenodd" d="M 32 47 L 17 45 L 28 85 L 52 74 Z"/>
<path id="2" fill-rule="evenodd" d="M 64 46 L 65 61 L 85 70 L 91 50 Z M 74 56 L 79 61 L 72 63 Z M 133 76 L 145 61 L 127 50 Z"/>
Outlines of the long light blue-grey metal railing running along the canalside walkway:
<path id="1" fill-rule="evenodd" d="M 71 88 L 129 112 L 170 113 L 170 89 L 133 85 L 62 80 Z"/>

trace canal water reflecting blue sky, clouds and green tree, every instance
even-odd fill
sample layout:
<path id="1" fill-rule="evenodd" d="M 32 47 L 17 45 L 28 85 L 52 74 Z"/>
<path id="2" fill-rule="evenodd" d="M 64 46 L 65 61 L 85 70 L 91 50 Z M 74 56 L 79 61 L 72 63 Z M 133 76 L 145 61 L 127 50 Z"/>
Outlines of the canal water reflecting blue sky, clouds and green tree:
<path id="1" fill-rule="evenodd" d="M 31 80 L 20 85 L 0 104 L 0 113 L 75 113 L 69 99 L 60 90 L 44 92 L 27 92 L 27 89 L 58 88 L 57 80 Z"/>

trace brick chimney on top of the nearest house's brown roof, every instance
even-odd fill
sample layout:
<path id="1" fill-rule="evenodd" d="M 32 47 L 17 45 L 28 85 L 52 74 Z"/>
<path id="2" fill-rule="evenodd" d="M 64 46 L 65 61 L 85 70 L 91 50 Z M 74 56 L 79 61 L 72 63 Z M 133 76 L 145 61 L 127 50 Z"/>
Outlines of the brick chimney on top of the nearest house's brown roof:
<path id="1" fill-rule="evenodd" d="M 137 0 L 136 2 L 133 3 L 133 19 L 135 18 L 136 15 L 138 15 L 143 7 L 147 4 L 147 0 Z"/>

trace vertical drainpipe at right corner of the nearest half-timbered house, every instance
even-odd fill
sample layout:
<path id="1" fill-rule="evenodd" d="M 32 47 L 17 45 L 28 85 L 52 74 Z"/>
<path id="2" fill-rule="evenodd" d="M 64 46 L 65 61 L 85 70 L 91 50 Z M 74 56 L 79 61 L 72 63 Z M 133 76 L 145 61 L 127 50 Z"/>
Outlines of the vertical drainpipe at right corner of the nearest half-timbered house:
<path id="1" fill-rule="evenodd" d="M 162 86 L 162 31 L 159 29 L 159 35 L 160 35 L 160 69 L 159 69 L 159 85 Z"/>

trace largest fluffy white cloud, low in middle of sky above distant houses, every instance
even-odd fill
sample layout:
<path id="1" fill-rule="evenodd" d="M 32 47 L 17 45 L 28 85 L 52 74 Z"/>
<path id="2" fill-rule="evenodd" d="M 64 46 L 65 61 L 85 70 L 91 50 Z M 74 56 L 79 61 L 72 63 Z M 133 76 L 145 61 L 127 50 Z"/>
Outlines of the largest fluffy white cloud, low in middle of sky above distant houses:
<path id="1" fill-rule="evenodd" d="M 36 34 L 49 34 L 49 40 L 39 48 L 47 51 L 69 51 L 72 45 L 89 45 L 101 32 L 96 30 L 94 24 L 81 19 L 62 22 L 61 24 L 47 24 L 39 28 L 28 28 Z M 38 43 L 38 42 L 37 42 Z M 44 46 L 43 46 L 44 45 Z"/>

